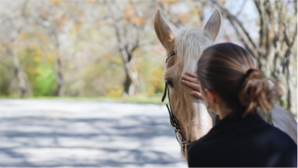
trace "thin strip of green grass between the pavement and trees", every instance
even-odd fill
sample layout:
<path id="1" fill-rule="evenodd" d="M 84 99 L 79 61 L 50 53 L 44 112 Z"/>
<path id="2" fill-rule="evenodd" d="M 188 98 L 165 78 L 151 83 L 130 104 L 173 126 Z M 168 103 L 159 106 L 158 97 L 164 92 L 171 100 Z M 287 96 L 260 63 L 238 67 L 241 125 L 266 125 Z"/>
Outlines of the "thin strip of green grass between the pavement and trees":
<path id="1" fill-rule="evenodd" d="M 55 99 L 55 100 L 95 100 L 95 101 L 115 101 L 115 102 L 134 102 L 148 104 L 165 104 L 168 100 L 162 102 L 162 96 L 123 96 L 123 97 L 55 97 L 55 96 L 40 96 L 31 97 L 28 99 Z"/>

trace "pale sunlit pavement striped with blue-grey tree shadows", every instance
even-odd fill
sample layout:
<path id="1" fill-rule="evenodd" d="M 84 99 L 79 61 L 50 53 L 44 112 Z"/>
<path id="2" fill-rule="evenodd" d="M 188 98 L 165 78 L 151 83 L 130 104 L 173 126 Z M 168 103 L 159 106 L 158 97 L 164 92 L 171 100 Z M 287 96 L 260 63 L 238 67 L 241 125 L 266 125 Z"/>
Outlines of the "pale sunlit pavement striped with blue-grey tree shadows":
<path id="1" fill-rule="evenodd" d="M 0 167 L 187 167 L 165 105 L 0 100 Z"/>

